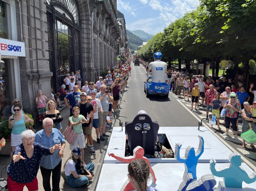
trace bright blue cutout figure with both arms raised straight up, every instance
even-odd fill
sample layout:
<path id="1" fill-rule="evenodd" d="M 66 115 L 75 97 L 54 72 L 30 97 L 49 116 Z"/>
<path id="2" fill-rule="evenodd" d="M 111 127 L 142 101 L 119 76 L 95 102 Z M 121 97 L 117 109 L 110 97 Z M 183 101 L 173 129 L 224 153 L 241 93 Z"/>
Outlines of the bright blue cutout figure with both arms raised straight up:
<path id="1" fill-rule="evenodd" d="M 197 165 L 197 161 L 199 159 L 199 157 L 203 154 L 204 152 L 204 139 L 203 137 L 199 136 L 199 146 L 198 146 L 198 150 L 195 153 L 195 150 L 193 147 L 187 147 L 186 151 L 185 151 L 185 157 L 180 157 L 180 147 L 182 146 L 182 144 L 180 143 L 176 143 L 175 145 L 175 153 L 174 153 L 174 157 L 175 159 L 177 159 L 177 161 L 184 163 L 185 165 L 185 172 L 183 175 L 183 180 L 185 179 L 185 176 L 188 173 L 191 173 L 193 176 L 193 179 L 196 179 L 196 165 Z"/>

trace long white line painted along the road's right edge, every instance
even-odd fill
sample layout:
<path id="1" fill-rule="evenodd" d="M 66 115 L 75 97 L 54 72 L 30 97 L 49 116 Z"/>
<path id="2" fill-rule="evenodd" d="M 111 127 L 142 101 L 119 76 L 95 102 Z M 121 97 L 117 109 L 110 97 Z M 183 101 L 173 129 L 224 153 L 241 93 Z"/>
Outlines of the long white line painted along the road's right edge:
<path id="1" fill-rule="evenodd" d="M 178 100 L 178 99 L 177 99 Z M 190 109 L 188 109 L 184 104 L 182 104 L 181 100 L 178 100 L 180 102 L 180 104 L 185 107 L 185 109 L 187 109 L 196 119 L 198 119 L 199 121 L 201 121 L 201 119 L 199 119 L 192 111 L 190 111 Z M 208 125 L 206 125 L 206 123 L 202 122 L 203 126 L 206 127 L 210 132 L 212 132 L 221 142 L 223 142 L 224 145 L 226 145 L 231 151 L 233 152 L 237 152 L 233 147 L 231 147 L 227 142 L 225 142 L 222 138 L 220 138 L 216 133 L 214 133 L 212 128 L 209 128 Z M 215 130 L 215 129 L 214 129 Z M 226 136 L 227 140 L 230 141 L 235 141 L 233 138 L 229 139 L 228 137 L 230 136 Z M 238 148 L 237 148 L 238 149 Z M 240 151 L 240 150 L 239 150 Z M 250 153 L 251 155 L 251 153 Z M 247 164 L 249 165 L 252 169 L 256 170 L 256 167 L 250 162 L 248 161 L 244 156 L 240 155 L 241 159 Z"/>

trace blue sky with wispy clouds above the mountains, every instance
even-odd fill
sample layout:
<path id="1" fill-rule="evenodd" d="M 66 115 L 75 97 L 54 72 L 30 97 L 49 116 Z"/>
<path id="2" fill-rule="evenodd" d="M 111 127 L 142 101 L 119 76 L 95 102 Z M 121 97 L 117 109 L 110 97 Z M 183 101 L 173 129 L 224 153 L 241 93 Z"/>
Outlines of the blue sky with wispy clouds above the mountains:
<path id="1" fill-rule="evenodd" d="M 117 9 L 125 15 L 126 29 L 155 35 L 197 4 L 198 0 L 117 0 Z"/>

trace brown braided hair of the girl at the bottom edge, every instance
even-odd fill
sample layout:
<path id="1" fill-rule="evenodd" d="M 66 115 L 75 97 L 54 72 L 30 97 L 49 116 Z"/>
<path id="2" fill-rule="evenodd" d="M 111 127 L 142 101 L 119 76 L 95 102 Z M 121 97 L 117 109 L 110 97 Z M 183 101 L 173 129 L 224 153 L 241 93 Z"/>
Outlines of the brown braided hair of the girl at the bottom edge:
<path id="1" fill-rule="evenodd" d="M 143 159 L 135 159 L 128 165 L 128 172 L 140 187 L 140 191 L 146 191 L 147 180 L 149 179 L 150 169 L 148 163 Z"/>

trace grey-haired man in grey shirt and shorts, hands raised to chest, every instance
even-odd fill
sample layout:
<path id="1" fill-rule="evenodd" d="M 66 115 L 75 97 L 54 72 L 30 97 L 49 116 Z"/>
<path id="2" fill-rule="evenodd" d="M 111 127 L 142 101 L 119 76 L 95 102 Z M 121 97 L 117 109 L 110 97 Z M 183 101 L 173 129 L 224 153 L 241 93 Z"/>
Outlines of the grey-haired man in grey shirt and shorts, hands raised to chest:
<path id="1" fill-rule="evenodd" d="M 109 135 L 105 133 L 106 116 L 108 114 L 109 103 L 112 103 L 113 100 L 109 96 L 109 93 L 106 93 L 105 85 L 101 85 L 101 91 L 97 93 L 96 98 L 101 101 L 101 106 L 103 109 L 103 113 L 98 113 L 98 114 L 99 114 L 100 139 L 101 141 L 105 141 L 105 137 L 109 137 Z"/>

